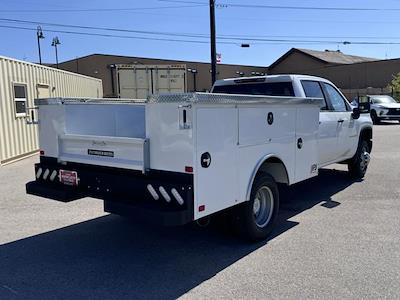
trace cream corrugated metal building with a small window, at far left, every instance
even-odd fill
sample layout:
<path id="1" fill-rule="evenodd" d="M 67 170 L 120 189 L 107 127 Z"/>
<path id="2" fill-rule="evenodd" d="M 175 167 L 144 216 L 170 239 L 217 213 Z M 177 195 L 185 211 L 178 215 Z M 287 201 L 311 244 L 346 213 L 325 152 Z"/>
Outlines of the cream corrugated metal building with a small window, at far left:
<path id="1" fill-rule="evenodd" d="M 0 165 L 38 150 L 34 99 L 102 96 L 100 79 L 0 56 Z"/>

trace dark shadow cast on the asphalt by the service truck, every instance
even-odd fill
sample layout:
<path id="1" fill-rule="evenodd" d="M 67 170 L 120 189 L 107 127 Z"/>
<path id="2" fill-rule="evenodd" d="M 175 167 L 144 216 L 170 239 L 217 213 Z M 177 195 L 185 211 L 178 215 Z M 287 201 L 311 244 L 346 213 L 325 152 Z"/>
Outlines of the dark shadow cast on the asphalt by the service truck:
<path id="1" fill-rule="evenodd" d="M 337 206 L 331 197 L 351 184 L 345 172 L 322 170 L 285 190 L 270 240 L 302 211 Z M 108 215 L 0 246 L 0 298 L 177 298 L 267 243 Z"/>

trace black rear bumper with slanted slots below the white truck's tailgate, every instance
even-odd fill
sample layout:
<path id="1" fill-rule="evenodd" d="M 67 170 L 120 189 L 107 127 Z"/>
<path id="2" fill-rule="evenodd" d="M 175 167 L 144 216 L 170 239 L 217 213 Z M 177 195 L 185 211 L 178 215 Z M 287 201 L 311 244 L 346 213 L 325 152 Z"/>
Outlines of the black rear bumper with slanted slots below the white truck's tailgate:
<path id="1" fill-rule="evenodd" d="M 76 172 L 77 186 L 60 182 L 60 170 Z M 84 197 L 104 200 L 104 210 L 163 225 L 183 225 L 193 220 L 193 175 L 165 171 L 140 171 L 80 163 L 59 164 L 41 157 L 35 165 L 36 181 L 26 192 L 61 202 Z M 53 176 L 51 175 L 53 174 Z"/>

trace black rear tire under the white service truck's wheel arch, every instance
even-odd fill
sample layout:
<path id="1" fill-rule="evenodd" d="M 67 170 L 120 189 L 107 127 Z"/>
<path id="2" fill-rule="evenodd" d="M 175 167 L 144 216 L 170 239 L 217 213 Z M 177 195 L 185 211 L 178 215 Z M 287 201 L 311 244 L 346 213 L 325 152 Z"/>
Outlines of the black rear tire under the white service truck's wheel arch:
<path id="1" fill-rule="evenodd" d="M 261 194 L 257 194 L 257 193 Z M 265 199 L 256 199 L 258 195 L 260 198 L 264 197 Z M 267 200 L 267 198 L 271 198 Z M 272 203 L 267 213 L 256 214 L 255 209 L 257 205 L 255 202 L 259 203 L 259 210 L 264 211 L 263 208 L 267 207 L 267 204 L 264 203 Z M 272 207 L 271 207 L 272 206 Z M 279 192 L 278 186 L 276 185 L 275 180 L 266 173 L 261 173 L 257 175 L 254 180 L 253 187 L 251 189 L 250 201 L 246 201 L 242 203 L 236 208 L 235 212 L 235 225 L 239 234 L 250 241 L 259 241 L 264 240 L 268 237 L 273 229 L 273 225 L 276 221 L 279 211 Z M 264 220 L 265 219 L 265 220 Z"/>

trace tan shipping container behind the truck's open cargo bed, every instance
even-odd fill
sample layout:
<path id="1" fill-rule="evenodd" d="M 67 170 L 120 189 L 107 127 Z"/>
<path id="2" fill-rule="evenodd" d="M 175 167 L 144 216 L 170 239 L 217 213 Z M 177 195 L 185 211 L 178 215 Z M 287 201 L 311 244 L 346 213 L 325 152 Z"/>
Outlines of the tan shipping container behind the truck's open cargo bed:
<path id="1" fill-rule="evenodd" d="M 115 65 L 119 98 L 187 91 L 186 65 Z"/>

